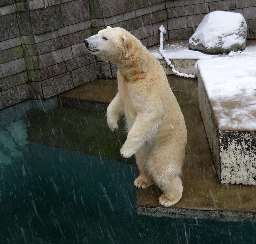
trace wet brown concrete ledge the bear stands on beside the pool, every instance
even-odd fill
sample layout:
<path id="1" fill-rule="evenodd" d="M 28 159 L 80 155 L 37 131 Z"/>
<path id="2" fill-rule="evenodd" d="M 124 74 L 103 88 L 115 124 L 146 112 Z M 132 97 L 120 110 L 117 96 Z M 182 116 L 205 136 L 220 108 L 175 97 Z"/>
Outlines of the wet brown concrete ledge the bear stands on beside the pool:
<path id="1" fill-rule="evenodd" d="M 181 106 L 188 131 L 182 175 L 183 197 L 174 207 L 165 208 L 158 203 L 161 191 L 156 186 L 138 189 L 138 213 L 256 222 L 256 188 L 225 185 L 218 181 L 198 106 L 197 81 L 173 75 L 169 75 L 168 80 Z M 98 79 L 61 94 L 60 100 L 64 106 L 69 107 L 82 108 L 90 104 L 96 109 L 106 109 L 116 91 L 116 79 Z"/>

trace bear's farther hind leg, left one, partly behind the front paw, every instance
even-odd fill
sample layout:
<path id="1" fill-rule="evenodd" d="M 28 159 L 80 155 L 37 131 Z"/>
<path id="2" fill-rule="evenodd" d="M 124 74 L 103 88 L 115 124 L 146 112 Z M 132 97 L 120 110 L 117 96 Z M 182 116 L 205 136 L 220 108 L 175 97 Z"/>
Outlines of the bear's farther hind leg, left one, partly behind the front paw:
<path id="1" fill-rule="evenodd" d="M 135 153 L 136 163 L 140 171 L 139 177 L 134 181 L 134 185 L 137 188 L 146 188 L 154 184 L 146 169 L 146 161 L 148 160 L 149 154 L 150 146 L 148 144 Z"/>

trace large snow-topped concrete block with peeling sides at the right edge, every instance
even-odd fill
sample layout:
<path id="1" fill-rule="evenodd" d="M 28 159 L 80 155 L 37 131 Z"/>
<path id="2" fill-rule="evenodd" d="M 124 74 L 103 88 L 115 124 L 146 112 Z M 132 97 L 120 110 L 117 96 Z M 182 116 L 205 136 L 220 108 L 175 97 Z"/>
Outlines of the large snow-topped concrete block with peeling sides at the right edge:
<path id="1" fill-rule="evenodd" d="M 198 92 L 220 182 L 256 185 L 256 52 L 201 61 Z"/>

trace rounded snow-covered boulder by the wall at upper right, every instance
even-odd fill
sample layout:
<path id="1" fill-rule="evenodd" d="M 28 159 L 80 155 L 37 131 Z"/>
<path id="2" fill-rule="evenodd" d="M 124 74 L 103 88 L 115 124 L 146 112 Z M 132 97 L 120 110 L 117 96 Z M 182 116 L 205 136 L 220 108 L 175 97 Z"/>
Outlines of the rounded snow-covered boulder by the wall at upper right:
<path id="1" fill-rule="evenodd" d="M 210 54 L 245 49 L 247 24 L 239 13 L 214 11 L 207 14 L 189 38 L 189 48 Z"/>

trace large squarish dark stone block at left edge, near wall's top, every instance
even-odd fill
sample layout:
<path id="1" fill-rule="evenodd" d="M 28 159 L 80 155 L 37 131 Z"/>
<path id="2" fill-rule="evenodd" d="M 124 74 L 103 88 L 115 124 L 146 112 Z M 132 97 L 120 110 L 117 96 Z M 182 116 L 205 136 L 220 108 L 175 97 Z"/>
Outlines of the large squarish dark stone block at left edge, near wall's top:
<path id="1" fill-rule="evenodd" d="M 19 36 L 16 14 L 0 16 L 0 41 Z"/>

